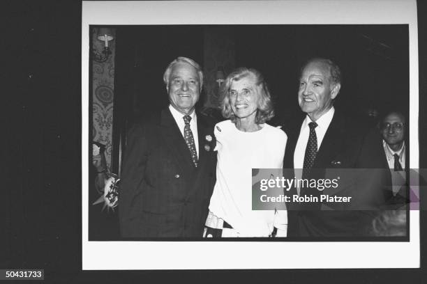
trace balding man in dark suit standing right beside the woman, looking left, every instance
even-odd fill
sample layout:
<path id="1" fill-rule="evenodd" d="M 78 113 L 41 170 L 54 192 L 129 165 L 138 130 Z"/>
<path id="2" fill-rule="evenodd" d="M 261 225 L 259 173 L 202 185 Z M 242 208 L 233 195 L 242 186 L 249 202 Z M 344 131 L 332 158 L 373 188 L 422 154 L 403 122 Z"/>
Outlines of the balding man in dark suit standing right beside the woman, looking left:
<path id="1" fill-rule="evenodd" d="M 329 59 L 311 59 L 301 69 L 298 100 L 306 117 L 301 124 L 285 127 L 288 142 L 283 162 L 284 168 L 295 169 L 294 176 L 297 179 L 324 179 L 327 169 L 331 168 L 376 167 L 360 159 L 368 141 L 367 131 L 334 108 L 333 103 L 340 87 L 340 69 Z M 345 173 L 343 170 L 342 174 Z M 384 180 L 380 175 L 374 175 L 374 179 L 366 173 L 360 173 L 359 176 L 364 178 L 359 178 L 357 182 L 345 184 L 341 180 L 342 192 L 335 194 L 351 196 L 352 200 L 345 206 L 340 206 L 340 210 L 325 211 L 324 205 L 318 202 L 290 203 L 288 236 L 367 235 L 375 214 L 366 210 L 384 204 L 384 191 L 380 189 Z M 328 191 L 296 187 L 291 189 L 290 194 L 319 198 L 320 194 L 328 194 Z M 364 210 L 360 210 L 362 208 Z"/>

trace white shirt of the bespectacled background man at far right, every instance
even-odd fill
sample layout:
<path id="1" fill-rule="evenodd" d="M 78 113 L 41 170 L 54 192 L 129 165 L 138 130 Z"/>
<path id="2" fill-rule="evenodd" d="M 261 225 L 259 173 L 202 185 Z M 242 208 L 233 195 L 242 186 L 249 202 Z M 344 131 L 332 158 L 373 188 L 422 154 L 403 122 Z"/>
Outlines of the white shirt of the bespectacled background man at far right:
<path id="1" fill-rule="evenodd" d="M 396 194 L 398 194 L 398 191 L 406 182 L 406 172 L 394 171 L 394 154 L 399 155 L 400 165 L 402 166 L 403 170 L 405 170 L 405 141 L 403 141 L 402 148 L 400 148 L 400 150 L 396 152 L 394 152 L 394 150 L 391 150 L 389 144 L 387 144 L 384 140 L 382 141 L 382 147 L 384 148 L 384 152 L 387 157 L 387 163 L 389 164 L 389 168 L 391 170 L 391 183 L 393 185 L 393 195 L 395 196 Z"/>

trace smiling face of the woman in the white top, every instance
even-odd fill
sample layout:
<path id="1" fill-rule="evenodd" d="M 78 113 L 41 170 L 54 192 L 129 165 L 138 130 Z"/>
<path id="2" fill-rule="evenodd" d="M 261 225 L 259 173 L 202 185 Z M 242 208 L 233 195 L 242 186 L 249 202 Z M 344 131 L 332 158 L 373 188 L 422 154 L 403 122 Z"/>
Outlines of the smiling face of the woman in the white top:
<path id="1" fill-rule="evenodd" d="M 259 88 L 255 83 L 255 77 L 252 75 L 232 81 L 228 92 L 232 110 L 237 118 L 255 122 L 259 100 Z"/>

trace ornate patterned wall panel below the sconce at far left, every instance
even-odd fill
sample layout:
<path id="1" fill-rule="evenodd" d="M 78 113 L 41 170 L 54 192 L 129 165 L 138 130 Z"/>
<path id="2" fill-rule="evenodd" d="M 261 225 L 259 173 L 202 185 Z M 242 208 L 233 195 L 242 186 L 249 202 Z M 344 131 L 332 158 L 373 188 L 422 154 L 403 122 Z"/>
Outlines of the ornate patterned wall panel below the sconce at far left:
<path id="1" fill-rule="evenodd" d="M 103 50 L 104 43 L 96 38 L 98 29 L 92 29 L 93 48 L 98 52 Z M 112 29 L 115 38 L 115 29 Z M 92 61 L 93 75 L 93 141 L 106 146 L 105 158 L 108 168 L 111 168 L 112 155 L 112 123 L 114 99 L 114 54 L 115 40 L 108 42 L 112 54 L 107 61 L 98 63 Z"/>

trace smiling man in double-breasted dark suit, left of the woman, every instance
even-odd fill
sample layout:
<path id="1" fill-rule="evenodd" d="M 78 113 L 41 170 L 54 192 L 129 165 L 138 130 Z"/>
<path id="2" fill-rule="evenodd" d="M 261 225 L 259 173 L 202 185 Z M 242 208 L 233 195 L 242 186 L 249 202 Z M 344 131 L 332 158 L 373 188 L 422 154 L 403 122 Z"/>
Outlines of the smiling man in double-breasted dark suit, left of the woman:
<path id="1" fill-rule="evenodd" d="M 203 73 L 190 58 L 163 76 L 170 105 L 128 134 L 119 189 L 122 237 L 202 237 L 215 182 L 213 122 L 195 111 Z"/>

